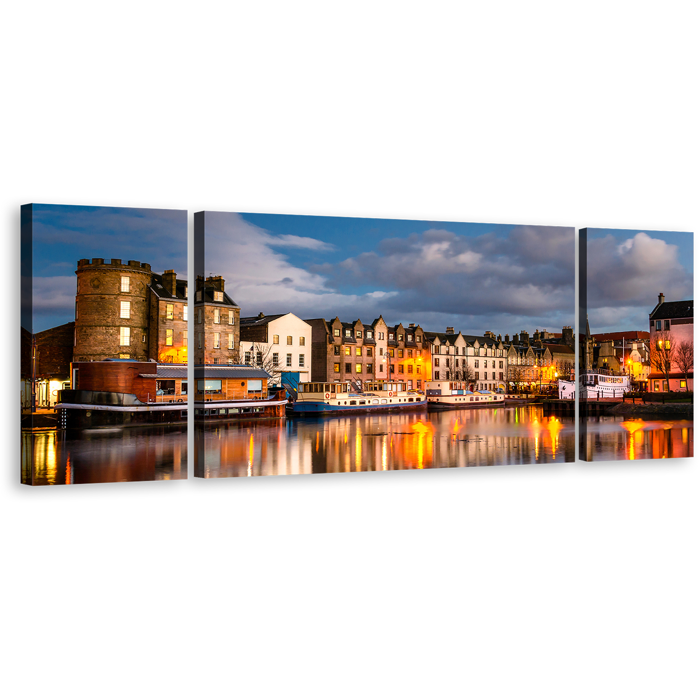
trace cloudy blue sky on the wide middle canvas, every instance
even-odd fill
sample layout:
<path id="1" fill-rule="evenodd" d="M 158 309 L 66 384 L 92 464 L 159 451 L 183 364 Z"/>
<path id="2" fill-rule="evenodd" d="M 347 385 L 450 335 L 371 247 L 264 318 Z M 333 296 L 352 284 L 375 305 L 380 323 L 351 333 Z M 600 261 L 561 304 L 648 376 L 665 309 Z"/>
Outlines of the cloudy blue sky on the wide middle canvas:
<path id="1" fill-rule="evenodd" d="M 206 212 L 206 275 L 240 315 L 510 336 L 572 326 L 575 229 Z"/>

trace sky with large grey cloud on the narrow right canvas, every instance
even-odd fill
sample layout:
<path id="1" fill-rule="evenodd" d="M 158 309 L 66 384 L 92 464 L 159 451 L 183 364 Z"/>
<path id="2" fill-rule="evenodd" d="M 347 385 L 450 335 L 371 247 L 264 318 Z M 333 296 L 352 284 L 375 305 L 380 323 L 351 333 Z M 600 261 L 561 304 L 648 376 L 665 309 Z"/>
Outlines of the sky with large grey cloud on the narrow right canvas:
<path id="1" fill-rule="evenodd" d="M 694 298 L 694 236 L 680 231 L 588 229 L 591 333 L 648 331 L 658 303 Z"/>

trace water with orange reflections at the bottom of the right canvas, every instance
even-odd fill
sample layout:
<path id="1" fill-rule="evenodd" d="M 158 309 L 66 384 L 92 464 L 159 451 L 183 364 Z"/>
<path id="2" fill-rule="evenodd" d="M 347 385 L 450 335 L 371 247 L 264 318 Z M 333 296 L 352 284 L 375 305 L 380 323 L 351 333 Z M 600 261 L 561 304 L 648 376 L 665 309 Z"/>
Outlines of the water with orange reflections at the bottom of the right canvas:
<path id="1" fill-rule="evenodd" d="M 694 421 L 603 415 L 587 419 L 586 461 L 694 456 Z"/>

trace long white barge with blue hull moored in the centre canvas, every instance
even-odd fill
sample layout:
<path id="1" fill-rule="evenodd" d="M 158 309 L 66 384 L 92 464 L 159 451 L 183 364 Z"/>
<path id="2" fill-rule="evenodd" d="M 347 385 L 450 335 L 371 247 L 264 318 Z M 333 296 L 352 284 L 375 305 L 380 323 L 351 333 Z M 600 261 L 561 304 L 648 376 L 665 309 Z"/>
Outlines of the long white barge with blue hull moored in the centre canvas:
<path id="1" fill-rule="evenodd" d="M 348 384 L 298 384 L 298 397 L 287 405 L 287 415 L 320 415 L 345 412 L 382 412 L 425 408 L 425 396 L 408 390 L 405 383 L 367 382 L 364 391 Z"/>

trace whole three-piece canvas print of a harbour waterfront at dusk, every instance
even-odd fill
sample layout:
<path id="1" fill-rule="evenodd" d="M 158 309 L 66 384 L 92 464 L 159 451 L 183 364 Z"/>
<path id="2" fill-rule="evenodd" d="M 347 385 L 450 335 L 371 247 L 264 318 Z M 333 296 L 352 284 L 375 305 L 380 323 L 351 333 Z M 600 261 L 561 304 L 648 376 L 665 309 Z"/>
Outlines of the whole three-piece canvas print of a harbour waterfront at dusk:
<path id="1" fill-rule="evenodd" d="M 37 203 L 22 236 L 25 484 L 693 456 L 691 233 Z"/>

